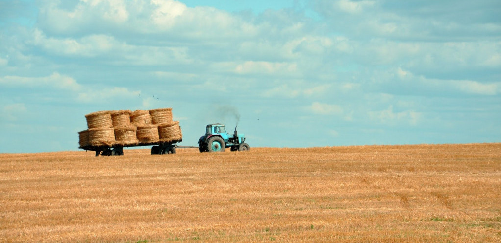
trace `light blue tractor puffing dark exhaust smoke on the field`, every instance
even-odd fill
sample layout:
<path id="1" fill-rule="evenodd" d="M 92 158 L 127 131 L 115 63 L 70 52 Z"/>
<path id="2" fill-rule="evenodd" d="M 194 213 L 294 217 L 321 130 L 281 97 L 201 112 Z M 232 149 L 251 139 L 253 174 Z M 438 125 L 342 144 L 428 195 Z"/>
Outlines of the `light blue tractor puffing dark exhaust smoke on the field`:
<path id="1" fill-rule="evenodd" d="M 231 151 L 249 150 L 249 145 L 244 141 L 245 136 L 238 134 L 236 126 L 233 136 L 230 136 L 223 124 L 208 124 L 205 128 L 205 135 L 198 139 L 198 150 L 200 152 L 222 152 L 226 147 L 230 147 Z"/>

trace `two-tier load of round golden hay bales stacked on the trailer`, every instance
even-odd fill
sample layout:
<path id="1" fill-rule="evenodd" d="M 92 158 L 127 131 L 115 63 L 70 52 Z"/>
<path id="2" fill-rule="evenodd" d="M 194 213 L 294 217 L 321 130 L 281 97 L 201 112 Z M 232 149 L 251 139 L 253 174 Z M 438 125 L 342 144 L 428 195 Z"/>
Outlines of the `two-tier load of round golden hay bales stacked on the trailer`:
<path id="1" fill-rule="evenodd" d="M 172 108 L 150 110 L 104 110 L 85 115 L 87 130 L 79 131 L 80 147 L 131 146 L 174 142 L 182 139 L 179 121 L 172 121 Z"/>

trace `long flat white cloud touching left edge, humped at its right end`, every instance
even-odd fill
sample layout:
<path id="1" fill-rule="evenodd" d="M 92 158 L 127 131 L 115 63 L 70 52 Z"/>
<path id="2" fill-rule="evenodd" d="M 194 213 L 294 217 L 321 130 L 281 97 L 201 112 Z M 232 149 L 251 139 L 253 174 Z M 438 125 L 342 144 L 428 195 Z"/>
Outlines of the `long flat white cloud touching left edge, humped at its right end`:
<path id="1" fill-rule="evenodd" d="M 45 77 L 4 76 L 0 77 L 0 84 L 8 87 L 37 88 L 50 86 L 54 89 L 79 90 L 81 85 L 72 77 L 61 75 L 58 72 Z"/>

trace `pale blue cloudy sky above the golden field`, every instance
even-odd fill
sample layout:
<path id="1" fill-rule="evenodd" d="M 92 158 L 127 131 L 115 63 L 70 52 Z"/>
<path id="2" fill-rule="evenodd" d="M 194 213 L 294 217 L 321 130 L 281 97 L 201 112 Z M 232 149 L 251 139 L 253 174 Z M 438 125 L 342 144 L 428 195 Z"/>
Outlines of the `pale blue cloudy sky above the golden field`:
<path id="1" fill-rule="evenodd" d="M 498 0 L 0 0 L 0 152 L 172 107 L 182 145 L 501 142 Z M 237 121 L 236 117 L 239 117 Z"/>

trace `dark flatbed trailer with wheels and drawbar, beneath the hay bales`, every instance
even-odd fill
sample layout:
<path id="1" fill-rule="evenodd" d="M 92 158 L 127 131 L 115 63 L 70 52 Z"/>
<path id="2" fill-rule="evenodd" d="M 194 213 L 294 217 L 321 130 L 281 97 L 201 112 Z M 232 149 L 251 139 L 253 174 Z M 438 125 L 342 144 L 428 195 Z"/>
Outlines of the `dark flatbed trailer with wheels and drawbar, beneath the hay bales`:
<path id="1" fill-rule="evenodd" d="M 151 154 L 171 154 L 176 153 L 176 148 L 184 147 L 197 147 L 197 146 L 180 146 L 177 145 L 178 142 L 182 140 L 173 140 L 169 142 L 139 142 L 134 144 L 112 144 L 112 145 L 86 145 L 80 146 L 79 148 L 85 150 L 96 151 L 96 157 L 101 154 L 101 156 L 121 156 L 124 155 L 124 147 L 135 147 L 135 146 L 152 146 Z"/>

